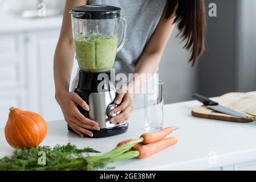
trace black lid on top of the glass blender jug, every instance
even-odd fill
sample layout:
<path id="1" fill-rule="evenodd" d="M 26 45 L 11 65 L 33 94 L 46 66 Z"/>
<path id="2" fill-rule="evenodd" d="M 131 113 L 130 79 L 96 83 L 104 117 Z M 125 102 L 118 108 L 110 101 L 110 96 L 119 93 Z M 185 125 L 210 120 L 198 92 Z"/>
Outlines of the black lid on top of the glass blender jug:
<path id="1" fill-rule="evenodd" d="M 73 18 L 79 19 L 113 19 L 120 17 L 121 8 L 108 5 L 85 5 L 71 9 Z"/>

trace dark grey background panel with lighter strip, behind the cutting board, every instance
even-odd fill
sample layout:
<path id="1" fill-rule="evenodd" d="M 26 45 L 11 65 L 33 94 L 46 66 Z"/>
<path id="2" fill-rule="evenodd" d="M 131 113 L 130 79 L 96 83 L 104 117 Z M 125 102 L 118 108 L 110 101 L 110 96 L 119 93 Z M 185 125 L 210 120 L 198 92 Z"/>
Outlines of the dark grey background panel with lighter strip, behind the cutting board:
<path id="1" fill-rule="evenodd" d="M 207 97 L 256 90 L 256 1 L 206 0 L 207 50 L 199 64 L 199 93 Z"/>

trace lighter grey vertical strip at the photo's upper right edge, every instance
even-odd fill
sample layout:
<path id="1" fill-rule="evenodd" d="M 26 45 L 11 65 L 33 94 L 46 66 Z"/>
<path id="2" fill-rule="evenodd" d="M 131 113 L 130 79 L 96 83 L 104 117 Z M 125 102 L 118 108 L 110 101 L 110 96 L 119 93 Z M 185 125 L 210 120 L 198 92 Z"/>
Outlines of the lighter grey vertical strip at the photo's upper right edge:
<path id="1" fill-rule="evenodd" d="M 237 90 L 256 89 L 256 1 L 238 1 Z"/>

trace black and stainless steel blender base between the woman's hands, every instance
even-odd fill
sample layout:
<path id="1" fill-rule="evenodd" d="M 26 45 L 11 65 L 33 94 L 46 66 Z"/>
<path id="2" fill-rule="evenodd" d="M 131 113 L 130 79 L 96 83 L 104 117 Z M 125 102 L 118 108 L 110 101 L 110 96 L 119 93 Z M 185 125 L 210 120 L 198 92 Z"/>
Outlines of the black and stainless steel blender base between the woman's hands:
<path id="1" fill-rule="evenodd" d="M 102 73 L 79 72 L 79 84 L 75 92 L 88 103 L 90 111 L 82 109 L 77 105 L 80 113 L 85 118 L 96 121 L 100 127 L 100 131 L 90 130 L 94 134 L 93 138 L 109 137 L 125 133 L 128 128 L 128 123 L 121 125 L 117 123 L 110 123 L 110 119 L 115 117 L 116 114 L 110 115 L 110 110 L 114 109 L 117 105 L 114 104 L 114 99 L 117 96 L 114 84 L 111 81 L 111 74 L 113 71 L 105 72 L 108 78 L 103 80 L 98 79 Z M 101 90 L 99 90 L 101 88 Z M 68 127 L 68 130 L 72 130 Z"/>

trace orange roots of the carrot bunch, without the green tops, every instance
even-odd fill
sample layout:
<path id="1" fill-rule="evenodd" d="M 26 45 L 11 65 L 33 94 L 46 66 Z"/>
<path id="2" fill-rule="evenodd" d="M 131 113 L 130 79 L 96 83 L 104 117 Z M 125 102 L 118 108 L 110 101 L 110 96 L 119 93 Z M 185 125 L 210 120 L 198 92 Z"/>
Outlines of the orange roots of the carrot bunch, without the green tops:
<path id="1" fill-rule="evenodd" d="M 172 127 L 167 127 L 166 129 L 162 129 L 160 131 L 155 131 L 151 133 L 144 133 L 141 135 L 142 142 L 135 144 L 131 150 L 139 151 L 139 155 L 137 158 L 142 159 L 155 154 L 156 152 L 163 150 L 168 146 L 171 146 L 177 143 L 177 139 L 175 138 L 166 138 L 167 135 L 171 134 L 175 129 Z M 123 146 L 124 144 L 134 142 L 133 139 L 124 140 L 119 142 L 117 146 Z"/>

